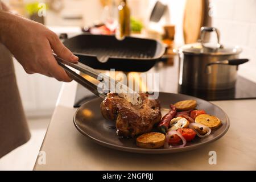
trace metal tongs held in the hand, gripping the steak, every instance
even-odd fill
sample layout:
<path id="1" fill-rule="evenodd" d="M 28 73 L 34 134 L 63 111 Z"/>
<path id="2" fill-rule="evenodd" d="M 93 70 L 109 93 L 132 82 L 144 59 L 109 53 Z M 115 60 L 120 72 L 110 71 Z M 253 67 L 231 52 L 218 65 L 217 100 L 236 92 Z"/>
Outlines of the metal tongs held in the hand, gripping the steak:
<path id="1" fill-rule="evenodd" d="M 55 53 L 53 53 L 53 56 L 57 60 L 58 64 L 62 68 L 64 68 L 65 71 L 68 72 L 69 76 L 73 80 L 75 80 L 76 82 L 78 82 L 79 84 L 84 86 L 86 89 L 90 90 L 90 92 L 94 93 L 96 96 L 105 98 L 107 96 L 106 93 L 115 92 L 115 93 L 118 93 L 119 97 L 125 98 L 125 100 L 131 102 L 131 104 L 133 104 L 133 105 L 141 105 L 142 104 L 141 96 L 139 96 L 138 93 L 134 92 L 134 90 L 131 90 L 127 85 L 123 85 L 121 82 L 117 82 L 113 78 L 105 75 L 104 73 L 101 73 L 101 72 L 97 71 L 96 69 L 88 67 L 87 65 L 84 65 L 80 62 L 71 63 L 67 60 L 60 58 Z M 110 88 L 109 90 L 102 90 L 102 88 L 98 87 L 98 85 L 95 85 L 92 82 L 86 80 L 84 77 L 77 74 L 75 71 L 68 68 L 66 65 L 68 65 L 69 67 L 75 68 L 78 71 L 95 78 L 96 80 L 98 80 L 98 78 L 100 78 L 100 80 L 98 80 L 100 82 L 102 82 L 104 80 L 108 80 L 108 83 L 110 85 L 111 84 L 113 84 L 113 85 L 119 84 L 119 86 L 118 87 L 115 86 L 115 90 L 111 90 L 111 86 L 109 86 L 109 88 Z M 123 93 L 122 90 L 120 90 L 119 88 L 122 88 L 122 90 L 127 90 L 127 92 Z"/>

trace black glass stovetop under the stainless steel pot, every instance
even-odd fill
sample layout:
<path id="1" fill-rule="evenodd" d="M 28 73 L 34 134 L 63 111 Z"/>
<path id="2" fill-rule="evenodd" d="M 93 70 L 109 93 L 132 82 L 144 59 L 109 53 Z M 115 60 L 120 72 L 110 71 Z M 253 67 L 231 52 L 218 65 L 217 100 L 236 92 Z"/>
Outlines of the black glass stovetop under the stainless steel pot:
<path id="1" fill-rule="evenodd" d="M 178 84 L 177 67 L 178 64 L 175 62 L 173 65 L 159 63 L 148 71 L 148 73 L 159 73 L 160 92 L 182 93 L 203 98 L 207 101 L 243 100 L 256 98 L 256 83 L 241 76 L 237 77 L 236 87 L 229 90 L 211 91 L 184 88 Z M 97 96 L 94 96 L 94 94 L 89 90 L 81 85 L 78 85 L 74 107 L 79 107 L 81 104 L 91 100 L 94 97 Z"/>

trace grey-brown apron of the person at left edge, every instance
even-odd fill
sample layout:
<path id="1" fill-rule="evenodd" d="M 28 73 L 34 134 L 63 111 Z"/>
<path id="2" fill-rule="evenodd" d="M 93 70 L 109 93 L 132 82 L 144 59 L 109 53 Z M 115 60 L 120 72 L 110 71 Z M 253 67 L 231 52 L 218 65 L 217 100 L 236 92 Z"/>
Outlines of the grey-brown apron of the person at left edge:
<path id="1" fill-rule="evenodd" d="M 0 43 L 0 158 L 29 139 L 30 131 L 16 84 L 13 59 Z"/>

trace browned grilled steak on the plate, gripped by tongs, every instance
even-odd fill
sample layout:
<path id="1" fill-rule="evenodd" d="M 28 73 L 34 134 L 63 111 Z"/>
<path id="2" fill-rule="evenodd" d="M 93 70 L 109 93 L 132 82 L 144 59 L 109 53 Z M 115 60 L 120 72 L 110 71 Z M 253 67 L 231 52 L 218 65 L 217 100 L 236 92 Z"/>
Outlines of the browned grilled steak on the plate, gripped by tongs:
<path id="1" fill-rule="evenodd" d="M 161 120 L 160 102 L 148 100 L 148 94 L 140 93 L 143 104 L 138 107 L 121 98 L 116 93 L 109 93 L 101 103 L 101 113 L 105 119 L 115 121 L 117 134 L 122 137 L 134 137 L 150 132 Z"/>

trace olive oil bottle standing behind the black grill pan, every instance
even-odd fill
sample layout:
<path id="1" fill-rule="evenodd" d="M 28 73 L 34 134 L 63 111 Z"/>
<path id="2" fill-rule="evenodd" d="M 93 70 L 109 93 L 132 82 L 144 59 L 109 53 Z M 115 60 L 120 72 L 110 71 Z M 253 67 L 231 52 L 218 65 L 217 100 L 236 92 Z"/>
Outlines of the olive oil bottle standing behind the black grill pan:
<path id="1" fill-rule="evenodd" d="M 118 27 L 116 31 L 116 37 L 119 40 L 129 36 L 131 33 L 130 28 L 130 9 L 126 0 L 121 0 L 118 6 Z"/>

